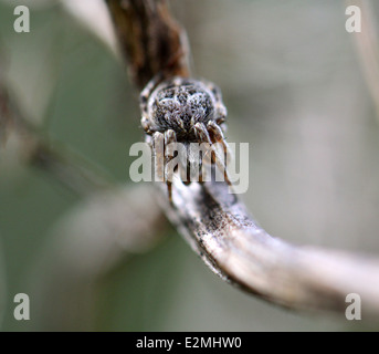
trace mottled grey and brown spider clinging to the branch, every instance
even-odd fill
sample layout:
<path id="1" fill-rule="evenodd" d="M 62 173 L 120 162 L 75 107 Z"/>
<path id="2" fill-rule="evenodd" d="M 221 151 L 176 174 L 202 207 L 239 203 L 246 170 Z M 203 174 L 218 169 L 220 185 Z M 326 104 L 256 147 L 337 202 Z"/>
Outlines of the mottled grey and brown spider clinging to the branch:
<path id="1" fill-rule="evenodd" d="M 213 83 L 193 79 L 175 76 L 159 83 L 152 79 L 140 94 L 143 112 L 141 125 L 146 133 L 146 142 L 152 148 L 155 170 L 166 181 L 169 201 L 172 204 L 172 173 L 167 168 L 173 158 L 172 144 L 206 143 L 211 150 L 210 163 L 223 171 L 224 180 L 231 186 L 227 171 L 227 159 L 221 159 L 215 143 L 223 148 L 224 156 L 230 156 L 224 139 L 227 108 L 222 103 L 221 91 Z M 162 144 L 162 152 L 157 148 Z M 187 160 L 191 162 L 189 148 Z M 164 155 L 164 156 L 160 156 Z M 200 165 L 204 159 L 198 160 Z M 161 163 L 165 162 L 165 168 Z M 200 168 L 201 169 L 201 168 Z M 202 170 L 202 169 L 201 169 Z M 199 183 L 203 177 L 200 173 Z M 188 178 L 186 185 L 192 180 Z"/>

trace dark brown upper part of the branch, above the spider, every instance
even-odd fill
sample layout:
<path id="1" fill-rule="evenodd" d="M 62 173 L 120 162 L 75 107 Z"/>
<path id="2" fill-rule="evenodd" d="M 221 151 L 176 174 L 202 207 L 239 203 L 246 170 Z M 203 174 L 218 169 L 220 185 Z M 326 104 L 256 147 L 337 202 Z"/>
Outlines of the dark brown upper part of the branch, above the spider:
<path id="1" fill-rule="evenodd" d="M 140 90 L 161 74 L 188 76 L 186 37 L 165 0 L 107 0 L 122 51 Z"/>

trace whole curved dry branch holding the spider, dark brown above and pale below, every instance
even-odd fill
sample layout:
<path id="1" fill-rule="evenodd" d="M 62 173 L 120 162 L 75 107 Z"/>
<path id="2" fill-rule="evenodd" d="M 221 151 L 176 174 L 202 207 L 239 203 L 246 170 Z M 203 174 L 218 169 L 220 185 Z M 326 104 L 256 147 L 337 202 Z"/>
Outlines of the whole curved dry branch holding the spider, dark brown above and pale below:
<path id="1" fill-rule="evenodd" d="M 182 56 L 172 61 L 186 49 L 178 48 L 179 30 L 172 27 L 166 1 L 107 3 L 138 88 L 159 72 L 188 74 Z M 177 179 L 172 186 L 173 207 L 167 201 L 165 186 L 160 191 L 168 218 L 225 281 L 297 310 L 344 313 L 346 295 L 358 293 L 364 312 L 379 314 L 378 260 L 295 247 L 273 238 L 256 225 L 236 196 L 228 194 L 222 183 L 183 186 Z"/>

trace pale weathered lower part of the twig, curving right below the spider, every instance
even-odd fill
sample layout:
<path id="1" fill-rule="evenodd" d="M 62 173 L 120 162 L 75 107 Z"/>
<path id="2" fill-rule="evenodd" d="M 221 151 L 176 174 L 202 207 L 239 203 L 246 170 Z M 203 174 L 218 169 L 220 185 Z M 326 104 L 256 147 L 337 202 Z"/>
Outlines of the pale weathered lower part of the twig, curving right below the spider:
<path id="1" fill-rule="evenodd" d="M 296 310 L 344 313 L 347 294 L 358 293 L 365 313 L 379 314 L 378 260 L 295 247 L 270 236 L 224 183 L 175 180 L 172 199 L 173 208 L 164 206 L 169 219 L 225 281 Z"/>

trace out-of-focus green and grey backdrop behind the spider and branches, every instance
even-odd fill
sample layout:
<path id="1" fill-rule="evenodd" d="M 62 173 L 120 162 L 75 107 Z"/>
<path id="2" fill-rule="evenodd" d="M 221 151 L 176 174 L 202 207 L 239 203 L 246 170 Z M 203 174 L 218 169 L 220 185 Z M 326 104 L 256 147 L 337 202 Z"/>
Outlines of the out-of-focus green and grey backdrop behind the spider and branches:
<path id="1" fill-rule="evenodd" d="M 14 3 L 0 2 L 1 70 L 22 112 L 128 184 L 128 149 L 143 131 L 123 65 L 60 2 L 27 2 L 31 32 L 24 34 L 13 31 Z M 298 244 L 379 254 L 379 121 L 345 31 L 345 8 L 339 0 L 172 2 L 196 75 L 222 88 L 228 139 L 251 144 L 243 198 L 260 223 Z M 56 296 L 46 277 L 61 267 L 56 225 L 82 200 L 24 166 L 15 150 L 12 142 L 0 150 L 2 331 L 378 329 L 365 319 L 297 314 L 246 295 L 212 274 L 175 230 L 150 252 Z M 78 299 L 75 287 L 90 287 L 87 298 Z M 30 321 L 13 317 L 19 292 L 31 296 Z"/>

